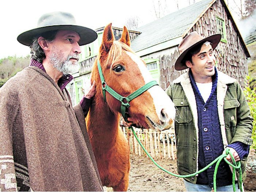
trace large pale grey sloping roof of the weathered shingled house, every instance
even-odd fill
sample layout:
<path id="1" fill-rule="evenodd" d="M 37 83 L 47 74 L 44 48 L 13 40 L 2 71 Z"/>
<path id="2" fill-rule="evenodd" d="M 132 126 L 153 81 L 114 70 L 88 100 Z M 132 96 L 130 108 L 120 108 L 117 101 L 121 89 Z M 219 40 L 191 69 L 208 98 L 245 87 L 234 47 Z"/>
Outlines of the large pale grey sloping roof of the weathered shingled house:
<path id="1" fill-rule="evenodd" d="M 133 51 L 138 52 L 159 43 L 181 37 L 211 2 L 212 0 L 199 1 L 137 28 L 136 31 L 142 33 L 132 41 L 131 47 Z"/>

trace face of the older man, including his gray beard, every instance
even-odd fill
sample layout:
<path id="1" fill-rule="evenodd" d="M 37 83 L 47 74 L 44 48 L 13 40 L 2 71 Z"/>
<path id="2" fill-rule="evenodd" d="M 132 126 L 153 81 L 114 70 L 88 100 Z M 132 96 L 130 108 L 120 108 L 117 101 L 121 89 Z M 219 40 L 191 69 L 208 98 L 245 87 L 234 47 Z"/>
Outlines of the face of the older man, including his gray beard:
<path id="1" fill-rule="evenodd" d="M 79 39 L 76 32 L 61 30 L 49 43 L 49 61 L 63 75 L 79 70 L 78 54 L 81 53 Z"/>

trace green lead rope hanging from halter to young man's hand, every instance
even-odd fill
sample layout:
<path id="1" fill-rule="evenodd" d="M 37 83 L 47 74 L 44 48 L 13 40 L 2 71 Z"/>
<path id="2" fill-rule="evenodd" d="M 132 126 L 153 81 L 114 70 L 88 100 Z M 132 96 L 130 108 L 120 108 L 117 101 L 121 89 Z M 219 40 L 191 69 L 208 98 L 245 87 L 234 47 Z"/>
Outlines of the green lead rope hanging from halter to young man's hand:
<path id="1" fill-rule="evenodd" d="M 153 160 L 153 158 L 151 157 L 151 155 L 147 152 L 147 150 L 144 148 L 144 146 L 142 145 L 142 143 L 140 142 L 140 140 L 138 139 L 135 131 L 133 130 L 133 128 L 130 126 L 129 129 L 132 130 L 132 133 L 133 135 L 135 136 L 135 138 L 137 139 L 137 141 L 139 142 L 140 146 L 142 147 L 142 149 L 146 152 L 146 154 L 148 155 L 148 157 L 151 159 L 151 161 L 160 169 L 162 169 L 163 171 L 165 171 L 166 173 L 169 173 L 170 175 L 172 176 L 175 176 L 175 177 L 181 177 L 181 178 L 185 178 L 185 177 L 192 177 L 192 176 L 195 176 L 196 174 L 199 174 L 199 173 L 202 173 L 204 170 L 208 169 L 210 166 L 212 166 L 213 164 L 215 164 L 216 162 L 216 166 L 215 166 L 215 169 L 214 169 L 214 175 L 213 175 L 213 188 L 214 188 L 214 191 L 217 191 L 216 190 L 216 176 L 217 176 L 217 171 L 218 171 L 218 167 L 219 167 L 219 164 L 221 162 L 222 159 L 224 159 L 227 164 L 229 164 L 230 166 L 232 166 L 233 168 L 233 176 L 232 176 L 232 182 L 233 182 L 233 191 L 236 191 L 236 187 L 235 187 L 235 174 L 236 174 L 236 171 L 235 169 L 239 169 L 239 178 L 238 178 L 238 184 L 239 184 L 239 188 L 240 188 L 240 191 L 243 191 L 242 189 L 242 169 L 241 169 L 241 163 L 240 161 L 236 162 L 235 159 L 234 159 L 234 156 L 233 154 L 231 154 L 230 150 L 229 149 L 226 149 L 226 154 L 222 154 L 220 155 L 218 158 L 216 158 L 214 161 L 212 161 L 209 165 L 207 165 L 205 168 L 197 171 L 196 173 L 192 173 L 192 174 L 188 174 L 188 175 L 178 175 L 178 174 L 174 174 L 174 173 L 171 173 L 169 171 L 167 171 L 166 169 L 162 168 L 160 165 L 157 164 L 157 162 L 155 162 Z M 227 161 L 226 157 L 227 155 L 230 154 L 231 158 L 232 158 L 232 161 L 233 161 L 233 164 L 231 164 L 229 161 Z"/>

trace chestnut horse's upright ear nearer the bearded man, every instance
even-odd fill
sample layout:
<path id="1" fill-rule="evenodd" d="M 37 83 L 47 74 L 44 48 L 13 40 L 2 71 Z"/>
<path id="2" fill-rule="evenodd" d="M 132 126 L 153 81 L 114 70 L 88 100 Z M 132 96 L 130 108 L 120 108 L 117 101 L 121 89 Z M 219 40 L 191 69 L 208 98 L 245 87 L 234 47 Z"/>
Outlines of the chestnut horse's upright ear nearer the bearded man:
<path id="1" fill-rule="evenodd" d="M 109 23 L 104 28 L 104 31 L 103 31 L 101 50 L 108 52 L 110 47 L 113 44 L 113 41 L 114 41 L 114 34 L 112 31 L 112 23 Z"/>

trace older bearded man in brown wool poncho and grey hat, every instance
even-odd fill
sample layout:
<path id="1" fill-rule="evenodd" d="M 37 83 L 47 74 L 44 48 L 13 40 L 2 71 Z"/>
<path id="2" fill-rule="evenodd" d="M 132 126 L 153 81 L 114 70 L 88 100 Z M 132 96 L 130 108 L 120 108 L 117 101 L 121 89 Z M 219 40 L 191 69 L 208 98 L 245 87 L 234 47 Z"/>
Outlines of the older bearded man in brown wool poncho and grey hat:
<path id="1" fill-rule="evenodd" d="M 65 89 L 96 38 L 65 12 L 18 36 L 31 62 L 0 88 L 0 191 L 103 191 L 84 122 L 95 85 L 74 108 Z"/>

